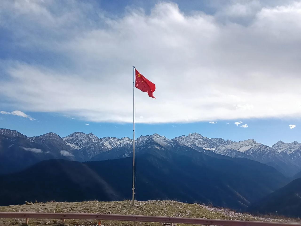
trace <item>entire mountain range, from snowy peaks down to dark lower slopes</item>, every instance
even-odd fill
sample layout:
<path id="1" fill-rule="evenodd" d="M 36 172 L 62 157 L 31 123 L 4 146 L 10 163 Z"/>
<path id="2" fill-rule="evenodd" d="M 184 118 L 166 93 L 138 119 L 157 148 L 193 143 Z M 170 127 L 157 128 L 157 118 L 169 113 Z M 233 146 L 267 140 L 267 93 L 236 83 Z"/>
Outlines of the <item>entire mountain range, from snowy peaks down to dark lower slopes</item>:
<path id="1" fill-rule="evenodd" d="M 82 132 L 27 137 L 0 129 L 0 205 L 130 199 L 132 142 Z M 287 215 L 299 208 L 298 201 L 282 202 L 282 209 L 275 205 L 279 199 L 299 199 L 300 146 L 279 141 L 269 147 L 198 133 L 174 139 L 140 136 L 135 140 L 136 198 Z"/>

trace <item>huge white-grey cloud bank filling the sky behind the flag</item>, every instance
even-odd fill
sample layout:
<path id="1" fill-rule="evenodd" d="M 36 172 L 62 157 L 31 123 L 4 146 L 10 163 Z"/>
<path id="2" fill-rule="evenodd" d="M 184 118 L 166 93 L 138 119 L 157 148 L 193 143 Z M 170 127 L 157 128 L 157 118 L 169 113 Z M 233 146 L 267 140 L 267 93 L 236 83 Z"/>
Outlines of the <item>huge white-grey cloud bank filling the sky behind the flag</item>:
<path id="1" fill-rule="evenodd" d="M 7 1 L 0 26 L 17 40 L 11 45 L 24 54 L 39 49 L 57 61 L 26 63 L 33 54 L 26 62 L 2 58 L 0 98 L 27 111 L 132 122 L 135 62 L 157 87 L 157 99 L 136 90 L 136 114 L 144 117 L 137 123 L 300 115 L 301 3 L 227 2 L 213 15 L 185 14 L 160 2 L 149 14 L 132 7 L 107 17 L 76 1 L 66 1 L 67 7 Z"/>

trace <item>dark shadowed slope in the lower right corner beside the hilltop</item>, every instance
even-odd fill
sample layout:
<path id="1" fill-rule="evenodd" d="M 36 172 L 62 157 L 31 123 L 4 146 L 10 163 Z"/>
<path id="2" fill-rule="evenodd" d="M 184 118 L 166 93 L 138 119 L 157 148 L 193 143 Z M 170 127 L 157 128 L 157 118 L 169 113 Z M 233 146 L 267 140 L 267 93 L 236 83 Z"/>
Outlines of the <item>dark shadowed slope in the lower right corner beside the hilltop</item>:
<path id="1" fill-rule="evenodd" d="M 301 217 L 301 178 L 269 194 L 248 209 L 253 213 L 272 213 L 289 217 Z"/>

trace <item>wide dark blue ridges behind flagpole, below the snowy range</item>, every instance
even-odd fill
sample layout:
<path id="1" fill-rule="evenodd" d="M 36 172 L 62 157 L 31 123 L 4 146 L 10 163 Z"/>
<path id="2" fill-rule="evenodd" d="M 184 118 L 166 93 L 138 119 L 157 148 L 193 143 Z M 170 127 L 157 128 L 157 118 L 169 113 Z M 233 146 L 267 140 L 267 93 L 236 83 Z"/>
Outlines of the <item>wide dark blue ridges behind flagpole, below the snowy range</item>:
<path id="1" fill-rule="evenodd" d="M 177 199 L 245 209 L 286 183 L 274 168 L 248 159 L 238 163 L 195 150 L 181 155 L 155 142 L 146 144 L 143 150 L 136 161 L 138 200 Z M 130 199 L 132 158 L 83 164 L 44 161 L 19 173 L 2 175 L 0 183 L 4 185 L 0 187 L 0 205 L 30 199 Z"/>

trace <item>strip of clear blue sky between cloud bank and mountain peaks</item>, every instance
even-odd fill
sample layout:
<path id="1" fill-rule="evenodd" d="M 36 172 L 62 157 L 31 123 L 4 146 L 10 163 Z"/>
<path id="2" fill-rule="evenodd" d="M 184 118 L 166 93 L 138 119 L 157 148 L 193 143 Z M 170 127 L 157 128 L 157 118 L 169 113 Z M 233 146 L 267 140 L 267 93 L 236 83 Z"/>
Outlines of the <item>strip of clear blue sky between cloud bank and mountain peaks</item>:
<path id="1" fill-rule="evenodd" d="M 39 136 L 48 132 L 55 132 L 65 137 L 75 131 L 94 133 L 98 137 L 130 137 L 132 138 L 132 124 L 130 123 L 99 123 L 89 122 L 59 114 L 30 112 L 36 120 L 12 115 L 1 115 L 1 128 L 17 130 L 27 136 Z M 237 120 L 240 122 L 239 120 Z M 195 123 L 164 123 L 164 124 L 136 124 L 136 137 L 159 133 L 172 139 L 188 133 L 200 133 L 209 138 L 221 137 L 225 140 L 247 140 L 252 138 L 257 142 L 272 146 L 277 141 L 300 142 L 300 129 L 290 129 L 289 124 L 300 124 L 296 119 L 244 119 L 242 124 L 236 126 L 235 121 L 218 121 L 217 124 L 209 122 Z M 227 124 L 229 123 L 229 124 Z M 89 125 L 85 125 L 89 124 Z M 244 128 L 241 125 L 247 124 Z"/>

